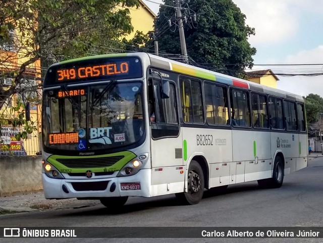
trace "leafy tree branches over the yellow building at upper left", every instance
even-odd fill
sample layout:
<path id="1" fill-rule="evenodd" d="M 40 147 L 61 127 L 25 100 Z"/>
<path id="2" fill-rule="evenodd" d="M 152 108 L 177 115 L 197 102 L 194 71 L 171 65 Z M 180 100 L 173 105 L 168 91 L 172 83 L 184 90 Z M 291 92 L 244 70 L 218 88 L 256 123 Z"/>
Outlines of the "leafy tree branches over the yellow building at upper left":
<path id="1" fill-rule="evenodd" d="M 0 45 L 13 48 L 0 51 L 0 68 L 13 81 L 0 85 L 0 109 L 13 94 L 30 91 L 24 75 L 36 61 L 51 64 L 87 56 L 96 46 L 111 48 L 132 31 L 128 8 L 133 6 L 138 0 L 3 0 Z M 17 57 L 22 62 L 13 65 Z"/>

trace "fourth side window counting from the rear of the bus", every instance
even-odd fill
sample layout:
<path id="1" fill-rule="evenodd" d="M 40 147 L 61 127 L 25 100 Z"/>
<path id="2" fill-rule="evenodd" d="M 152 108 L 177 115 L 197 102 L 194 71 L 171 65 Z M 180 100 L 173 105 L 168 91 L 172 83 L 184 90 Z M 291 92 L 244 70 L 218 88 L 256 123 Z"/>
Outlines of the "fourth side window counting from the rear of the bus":
<path id="1" fill-rule="evenodd" d="M 251 118 L 255 128 L 268 128 L 267 98 L 251 93 Z"/>

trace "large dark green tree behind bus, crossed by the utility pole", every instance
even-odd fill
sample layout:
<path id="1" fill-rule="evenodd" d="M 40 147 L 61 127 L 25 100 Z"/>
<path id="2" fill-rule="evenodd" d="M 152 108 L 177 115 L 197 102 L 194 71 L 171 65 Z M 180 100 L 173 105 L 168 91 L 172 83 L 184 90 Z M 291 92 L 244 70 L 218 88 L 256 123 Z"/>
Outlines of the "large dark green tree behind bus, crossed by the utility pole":
<path id="1" fill-rule="evenodd" d="M 164 0 L 164 3 L 174 6 L 173 0 Z M 168 20 L 176 20 L 175 9 L 165 5 L 160 7 L 154 26 L 159 50 L 180 54 L 180 38 L 178 30 L 174 30 L 175 24 L 166 30 Z M 253 65 L 252 56 L 256 49 L 250 46 L 248 37 L 254 35 L 254 28 L 245 24 L 246 16 L 232 0 L 191 0 L 188 4 L 182 3 L 182 8 L 185 8 L 183 16 L 188 19 L 188 24 L 184 23 L 187 53 L 196 63 L 234 76 L 243 73 L 246 66 Z M 201 13 L 196 22 L 192 10 Z"/>

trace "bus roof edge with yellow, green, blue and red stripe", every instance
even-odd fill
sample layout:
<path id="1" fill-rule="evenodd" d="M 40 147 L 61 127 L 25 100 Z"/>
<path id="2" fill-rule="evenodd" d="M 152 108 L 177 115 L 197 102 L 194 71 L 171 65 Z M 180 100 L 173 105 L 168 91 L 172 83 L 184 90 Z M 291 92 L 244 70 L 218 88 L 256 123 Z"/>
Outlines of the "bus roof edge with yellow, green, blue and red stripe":
<path id="1" fill-rule="evenodd" d="M 147 53 L 119 53 L 119 54 L 106 54 L 106 55 L 98 55 L 98 56 L 90 56 L 90 57 L 84 57 L 84 58 L 78 58 L 68 61 L 63 61 L 57 64 L 53 64 L 51 66 L 60 65 L 60 64 L 66 64 L 71 62 L 77 62 L 82 60 L 92 60 L 92 59 L 98 59 L 98 58 L 112 58 L 112 57 L 139 57 L 141 59 L 148 59 L 150 61 L 151 66 L 165 69 L 168 71 L 174 71 L 177 73 L 182 73 L 186 75 L 190 75 L 197 78 L 203 78 L 208 79 L 211 81 L 216 81 L 224 84 L 229 84 L 237 87 L 247 88 L 254 91 L 260 91 L 276 96 L 280 96 L 282 98 L 287 98 L 290 100 L 298 101 L 298 102 L 304 102 L 303 97 L 298 94 L 290 93 L 284 90 L 268 87 L 265 85 L 257 84 L 251 81 L 247 81 L 244 79 L 232 77 L 229 75 L 213 72 L 210 70 L 194 67 L 188 64 L 180 63 L 177 61 L 173 61 L 170 59 L 162 58 L 159 56 L 155 56 L 152 54 Z M 148 60 L 147 60 L 148 61 Z"/>

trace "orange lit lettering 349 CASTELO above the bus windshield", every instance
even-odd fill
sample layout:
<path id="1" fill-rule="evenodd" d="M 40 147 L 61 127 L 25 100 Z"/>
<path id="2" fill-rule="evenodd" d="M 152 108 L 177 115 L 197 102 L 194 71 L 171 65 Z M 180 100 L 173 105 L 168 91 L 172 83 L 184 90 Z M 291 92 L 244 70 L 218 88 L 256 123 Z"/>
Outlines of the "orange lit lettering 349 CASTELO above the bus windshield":
<path id="1" fill-rule="evenodd" d="M 57 70 L 57 80 L 66 81 L 119 74 L 129 74 L 129 62 L 60 69 Z"/>

